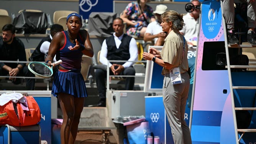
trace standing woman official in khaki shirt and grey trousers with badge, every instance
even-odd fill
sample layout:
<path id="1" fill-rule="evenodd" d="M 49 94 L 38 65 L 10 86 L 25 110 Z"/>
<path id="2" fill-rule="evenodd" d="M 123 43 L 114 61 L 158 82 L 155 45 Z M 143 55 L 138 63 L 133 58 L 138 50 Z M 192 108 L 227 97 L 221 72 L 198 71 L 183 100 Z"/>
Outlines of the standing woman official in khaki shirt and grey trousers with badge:
<path id="1" fill-rule="evenodd" d="M 166 115 L 171 126 L 172 137 L 175 144 L 192 144 L 190 130 L 184 120 L 185 106 L 189 93 L 189 64 L 187 61 L 187 43 L 179 31 L 184 26 L 183 16 L 176 11 L 165 11 L 161 15 L 162 30 L 168 35 L 165 39 L 162 51 L 154 48 L 143 53 L 143 58 L 161 65 L 164 75 L 163 102 Z M 181 81 L 179 84 L 172 84 L 170 71 L 179 67 Z"/>

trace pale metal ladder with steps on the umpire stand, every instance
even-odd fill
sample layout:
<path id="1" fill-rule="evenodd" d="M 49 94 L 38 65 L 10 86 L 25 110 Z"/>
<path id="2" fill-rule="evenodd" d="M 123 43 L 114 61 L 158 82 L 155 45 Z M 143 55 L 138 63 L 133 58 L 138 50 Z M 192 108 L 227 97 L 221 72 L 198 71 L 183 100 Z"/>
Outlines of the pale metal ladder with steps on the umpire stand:
<path id="1" fill-rule="evenodd" d="M 222 2 L 221 2 L 222 3 Z M 222 8 L 222 4 L 221 4 L 221 8 Z M 223 8 L 222 8 L 223 11 Z M 222 16 L 222 20 L 224 20 L 223 16 Z M 224 22 L 225 23 L 225 20 Z M 232 108 L 233 108 L 233 119 L 234 119 L 234 124 L 235 124 L 235 133 L 236 133 L 236 143 L 239 144 L 240 140 L 242 139 L 242 137 L 245 135 L 245 133 L 254 133 L 256 132 L 256 129 L 238 129 L 237 128 L 237 123 L 236 123 L 236 110 L 256 110 L 256 108 L 252 108 L 252 107 L 235 107 L 235 102 L 234 102 L 234 93 L 233 90 L 234 89 L 256 89 L 256 86 L 233 86 L 232 85 L 232 79 L 231 79 L 231 68 L 234 69 L 250 69 L 250 68 L 256 68 L 256 65 L 230 65 L 230 58 L 229 58 L 229 50 L 228 48 L 249 48 L 249 47 L 255 47 L 256 46 L 252 46 L 252 45 L 246 45 L 246 44 L 237 44 L 237 45 L 229 45 L 228 44 L 228 38 L 227 38 L 227 34 L 225 33 L 226 31 L 226 26 L 223 25 L 223 30 L 224 30 L 224 36 L 225 36 L 225 51 L 226 51 L 226 68 L 228 69 L 228 79 L 229 79 L 229 85 L 230 85 L 230 94 L 231 94 L 231 103 L 232 103 Z M 241 136 L 238 137 L 238 132 L 242 132 Z"/>

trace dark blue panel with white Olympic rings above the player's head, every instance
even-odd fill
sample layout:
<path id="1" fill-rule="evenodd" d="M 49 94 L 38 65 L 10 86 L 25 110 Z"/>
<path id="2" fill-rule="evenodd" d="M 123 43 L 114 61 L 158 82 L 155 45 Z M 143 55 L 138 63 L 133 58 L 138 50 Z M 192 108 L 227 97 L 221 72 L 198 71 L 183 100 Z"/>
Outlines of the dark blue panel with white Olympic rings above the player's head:
<path id="1" fill-rule="evenodd" d="M 113 12 L 113 0 L 79 0 L 79 14 L 88 19 L 91 12 Z"/>

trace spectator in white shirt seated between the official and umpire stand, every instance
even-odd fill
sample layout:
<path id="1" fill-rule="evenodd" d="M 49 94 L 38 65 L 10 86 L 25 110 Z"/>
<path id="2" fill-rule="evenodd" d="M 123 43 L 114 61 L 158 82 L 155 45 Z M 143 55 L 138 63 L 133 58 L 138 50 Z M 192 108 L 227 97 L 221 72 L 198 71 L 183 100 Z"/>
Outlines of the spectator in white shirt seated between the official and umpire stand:
<path id="1" fill-rule="evenodd" d="M 191 3 L 193 3 L 194 6 L 200 7 L 199 0 L 192 0 Z M 184 35 L 189 47 L 197 45 L 199 16 L 200 10 L 197 8 L 195 8 L 191 13 L 187 13 L 185 16 L 183 16 L 185 26 L 180 33 Z"/>

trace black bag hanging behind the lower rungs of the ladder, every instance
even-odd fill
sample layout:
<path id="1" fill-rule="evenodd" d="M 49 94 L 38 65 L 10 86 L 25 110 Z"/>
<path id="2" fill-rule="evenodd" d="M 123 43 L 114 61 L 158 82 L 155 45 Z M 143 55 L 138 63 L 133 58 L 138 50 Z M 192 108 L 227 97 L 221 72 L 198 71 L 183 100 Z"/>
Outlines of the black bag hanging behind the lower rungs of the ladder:
<path id="1" fill-rule="evenodd" d="M 253 107 L 255 107 L 255 97 L 253 99 Z M 253 116 L 253 110 L 251 113 L 248 110 L 236 110 L 236 124 L 238 129 L 247 129 L 251 124 L 251 118 Z"/>

